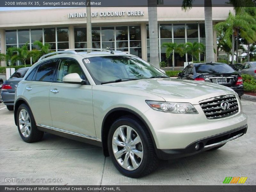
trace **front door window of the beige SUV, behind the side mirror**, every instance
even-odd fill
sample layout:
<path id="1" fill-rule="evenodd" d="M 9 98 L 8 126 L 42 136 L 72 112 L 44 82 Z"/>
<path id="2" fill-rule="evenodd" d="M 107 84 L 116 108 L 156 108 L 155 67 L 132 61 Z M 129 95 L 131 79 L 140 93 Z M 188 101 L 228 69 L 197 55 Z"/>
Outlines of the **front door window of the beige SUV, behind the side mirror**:
<path id="1" fill-rule="evenodd" d="M 84 74 L 75 60 L 70 60 L 70 59 L 61 60 L 60 66 L 57 72 L 57 81 L 63 82 L 62 81 L 63 77 L 70 73 L 77 73 L 81 77 L 81 79 L 85 80 Z"/>

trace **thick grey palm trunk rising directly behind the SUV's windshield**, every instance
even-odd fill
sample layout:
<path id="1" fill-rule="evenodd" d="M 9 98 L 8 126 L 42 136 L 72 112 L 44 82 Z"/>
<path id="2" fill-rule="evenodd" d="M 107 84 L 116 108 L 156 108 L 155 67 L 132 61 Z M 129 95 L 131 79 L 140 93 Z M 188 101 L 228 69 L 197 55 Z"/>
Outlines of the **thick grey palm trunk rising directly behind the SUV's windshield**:
<path id="1" fill-rule="evenodd" d="M 158 49 L 158 25 L 157 25 L 157 1 L 148 0 L 148 28 L 149 28 L 149 51 L 150 63 L 156 68 L 159 65 L 159 49 Z"/>

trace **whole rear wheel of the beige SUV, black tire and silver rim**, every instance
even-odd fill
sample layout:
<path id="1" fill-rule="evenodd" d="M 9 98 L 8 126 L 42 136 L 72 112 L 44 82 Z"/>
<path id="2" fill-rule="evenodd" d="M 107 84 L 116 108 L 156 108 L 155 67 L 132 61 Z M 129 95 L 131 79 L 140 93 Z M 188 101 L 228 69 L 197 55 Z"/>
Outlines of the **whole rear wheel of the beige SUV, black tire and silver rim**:
<path id="1" fill-rule="evenodd" d="M 44 132 L 39 131 L 30 108 L 21 104 L 17 110 L 17 124 L 20 137 L 27 143 L 36 142 L 42 139 Z"/>

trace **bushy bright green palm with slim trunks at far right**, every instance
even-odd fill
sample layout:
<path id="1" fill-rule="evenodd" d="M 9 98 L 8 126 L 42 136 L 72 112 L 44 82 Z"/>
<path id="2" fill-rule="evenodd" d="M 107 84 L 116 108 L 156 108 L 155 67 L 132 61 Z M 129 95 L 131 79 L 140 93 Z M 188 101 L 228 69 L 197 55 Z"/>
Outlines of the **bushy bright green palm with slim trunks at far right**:
<path id="1" fill-rule="evenodd" d="M 255 29 L 256 29 L 256 20 L 250 16 L 248 13 L 243 12 L 242 14 L 233 15 L 231 12 L 228 14 L 228 18 L 215 25 L 216 30 L 224 31 L 224 39 L 227 44 L 232 47 L 232 64 L 234 64 L 234 55 L 235 55 L 235 36 L 237 39 L 237 52 L 238 52 L 238 35 L 240 32 L 241 37 L 252 41 L 256 39 Z M 230 37 L 231 40 L 230 40 Z M 238 56 L 238 54 L 237 54 Z"/>

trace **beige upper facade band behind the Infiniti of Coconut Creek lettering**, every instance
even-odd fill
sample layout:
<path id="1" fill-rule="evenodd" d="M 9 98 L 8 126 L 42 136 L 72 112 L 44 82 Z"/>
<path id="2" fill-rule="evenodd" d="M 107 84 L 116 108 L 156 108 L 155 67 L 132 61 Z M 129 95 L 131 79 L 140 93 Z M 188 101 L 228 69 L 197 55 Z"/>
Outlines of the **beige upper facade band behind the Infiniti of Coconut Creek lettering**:
<path id="1" fill-rule="evenodd" d="M 105 11 L 143 11 L 144 16 L 118 16 L 118 17 L 97 17 L 92 18 L 94 26 L 97 25 L 120 25 L 124 23 L 148 22 L 147 7 L 101 7 L 92 8 L 92 12 Z M 231 7 L 213 7 L 213 21 L 225 20 L 228 12 L 232 11 Z M 86 18 L 68 18 L 68 13 L 86 12 L 85 8 L 63 8 L 48 10 L 26 10 L 26 11 L 6 11 L 0 12 L 0 28 L 26 28 L 33 26 L 59 26 L 59 25 L 79 25 L 86 23 Z M 180 7 L 158 7 L 158 21 L 174 22 L 195 22 L 204 21 L 204 7 L 194 7 L 188 12 L 184 12 Z"/>

